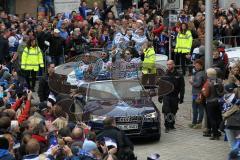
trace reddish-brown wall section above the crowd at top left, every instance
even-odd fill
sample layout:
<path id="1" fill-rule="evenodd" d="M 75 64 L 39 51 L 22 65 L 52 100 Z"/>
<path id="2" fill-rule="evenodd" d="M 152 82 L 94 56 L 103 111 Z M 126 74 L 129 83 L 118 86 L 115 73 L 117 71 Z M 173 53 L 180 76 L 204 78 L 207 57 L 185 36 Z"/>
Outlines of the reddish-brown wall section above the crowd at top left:
<path id="1" fill-rule="evenodd" d="M 29 13 L 31 16 L 37 15 L 37 0 L 16 0 L 16 14 Z"/>

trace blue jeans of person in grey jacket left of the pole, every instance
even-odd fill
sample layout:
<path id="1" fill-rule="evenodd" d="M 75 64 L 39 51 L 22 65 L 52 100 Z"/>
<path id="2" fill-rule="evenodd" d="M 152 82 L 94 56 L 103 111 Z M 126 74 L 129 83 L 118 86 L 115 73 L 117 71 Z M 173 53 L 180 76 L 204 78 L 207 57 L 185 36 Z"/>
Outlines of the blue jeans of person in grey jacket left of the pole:
<path id="1" fill-rule="evenodd" d="M 202 123 L 204 116 L 204 106 L 202 104 L 197 104 L 195 98 L 192 100 L 192 114 L 192 124 Z"/>

